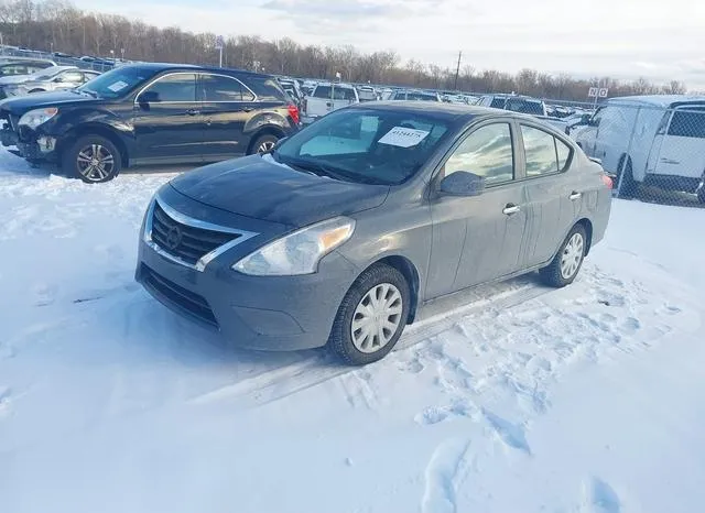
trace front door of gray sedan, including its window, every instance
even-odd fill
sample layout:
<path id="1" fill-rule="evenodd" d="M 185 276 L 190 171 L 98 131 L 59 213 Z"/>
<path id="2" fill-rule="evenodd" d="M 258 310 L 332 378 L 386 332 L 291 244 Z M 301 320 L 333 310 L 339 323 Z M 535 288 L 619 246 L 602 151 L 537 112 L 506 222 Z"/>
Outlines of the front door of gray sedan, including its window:
<path id="1" fill-rule="evenodd" d="M 433 240 L 426 297 L 437 297 L 511 274 L 521 268 L 527 211 L 517 182 L 517 134 L 511 121 L 473 129 L 455 146 L 435 179 Z M 485 178 L 479 196 L 446 196 L 440 182 L 458 171 Z"/>

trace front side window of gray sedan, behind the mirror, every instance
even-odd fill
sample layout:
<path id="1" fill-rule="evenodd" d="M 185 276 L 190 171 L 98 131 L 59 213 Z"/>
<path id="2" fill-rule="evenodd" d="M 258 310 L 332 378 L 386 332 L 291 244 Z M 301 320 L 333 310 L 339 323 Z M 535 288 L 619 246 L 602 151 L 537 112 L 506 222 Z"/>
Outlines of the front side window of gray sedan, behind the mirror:
<path id="1" fill-rule="evenodd" d="M 488 186 L 511 182 L 514 156 L 509 123 L 480 127 L 465 138 L 445 163 L 445 176 L 457 171 L 484 176 Z"/>

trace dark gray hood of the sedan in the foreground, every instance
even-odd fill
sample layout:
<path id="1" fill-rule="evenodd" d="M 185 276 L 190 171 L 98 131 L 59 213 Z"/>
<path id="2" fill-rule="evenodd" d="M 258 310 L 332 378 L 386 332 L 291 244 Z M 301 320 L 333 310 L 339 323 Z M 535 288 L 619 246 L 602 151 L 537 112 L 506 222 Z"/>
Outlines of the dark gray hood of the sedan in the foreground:
<path id="1" fill-rule="evenodd" d="M 315 176 L 251 155 L 184 173 L 171 182 L 181 194 L 232 214 L 302 227 L 378 207 L 387 185 Z"/>

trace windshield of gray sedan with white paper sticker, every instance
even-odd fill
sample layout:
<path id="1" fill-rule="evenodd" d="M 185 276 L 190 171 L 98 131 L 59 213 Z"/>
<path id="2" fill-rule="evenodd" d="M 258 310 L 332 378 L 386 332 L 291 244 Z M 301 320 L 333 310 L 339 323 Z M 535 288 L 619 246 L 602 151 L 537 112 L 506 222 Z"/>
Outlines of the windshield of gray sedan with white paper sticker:
<path id="1" fill-rule="evenodd" d="M 273 157 L 294 168 L 357 183 L 401 184 L 448 132 L 448 123 L 415 112 L 345 109 L 285 140 Z"/>

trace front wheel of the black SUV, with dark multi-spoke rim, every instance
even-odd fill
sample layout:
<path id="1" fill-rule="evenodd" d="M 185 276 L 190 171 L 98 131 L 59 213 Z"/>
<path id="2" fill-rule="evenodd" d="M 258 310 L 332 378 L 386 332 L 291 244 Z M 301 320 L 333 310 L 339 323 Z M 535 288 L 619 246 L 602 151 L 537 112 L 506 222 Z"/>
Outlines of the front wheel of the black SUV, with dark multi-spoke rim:
<path id="1" fill-rule="evenodd" d="M 94 157 L 94 152 L 97 152 Z M 96 165 L 102 162 L 102 166 Z M 109 182 L 120 173 L 120 152 L 108 139 L 100 135 L 85 135 L 72 144 L 62 155 L 62 168 L 68 176 L 83 179 L 87 184 Z"/>

